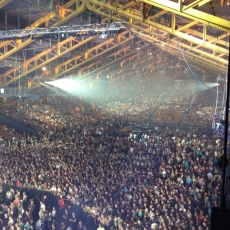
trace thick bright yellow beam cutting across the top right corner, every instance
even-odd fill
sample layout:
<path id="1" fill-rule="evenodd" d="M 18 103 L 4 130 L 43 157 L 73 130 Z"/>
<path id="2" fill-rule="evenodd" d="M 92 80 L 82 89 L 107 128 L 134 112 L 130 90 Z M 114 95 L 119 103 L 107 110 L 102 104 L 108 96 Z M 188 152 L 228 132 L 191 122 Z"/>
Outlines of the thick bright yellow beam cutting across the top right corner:
<path id="1" fill-rule="evenodd" d="M 186 6 L 182 6 L 182 9 L 180 10 L 180 5 L 173 1 L 143 0 L 143 2 L 156 6 L 160 9 L 168 10 L 171 13 L 175 13 L 176 15 L 183 16 L 193 21 L 200 22 L 204 25 L 211 26 L 218 30 L 230 32 L 230 23 L 228 20 L 216 17 L 200 10 L 193 8 L 186 9 Z"/>

